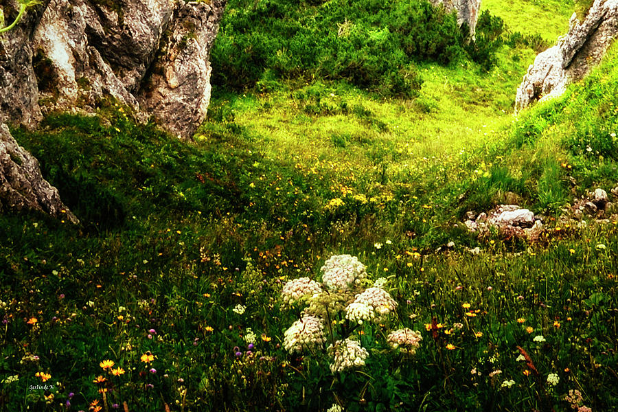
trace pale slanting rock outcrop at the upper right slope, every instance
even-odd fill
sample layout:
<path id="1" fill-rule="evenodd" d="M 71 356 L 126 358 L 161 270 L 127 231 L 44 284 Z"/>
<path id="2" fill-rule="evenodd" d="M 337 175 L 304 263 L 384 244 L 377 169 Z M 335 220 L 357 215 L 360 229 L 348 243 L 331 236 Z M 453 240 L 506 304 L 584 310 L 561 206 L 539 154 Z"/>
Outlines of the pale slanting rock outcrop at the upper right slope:
<path id="1" fill-rule="evenodd" d="M 618 35 L 618 0 L 595 0 L 583 22 L 573 13 L 569 32 L 542 52 L 517 90 L 515 111 L 555 98 L 597 65 Z"/>

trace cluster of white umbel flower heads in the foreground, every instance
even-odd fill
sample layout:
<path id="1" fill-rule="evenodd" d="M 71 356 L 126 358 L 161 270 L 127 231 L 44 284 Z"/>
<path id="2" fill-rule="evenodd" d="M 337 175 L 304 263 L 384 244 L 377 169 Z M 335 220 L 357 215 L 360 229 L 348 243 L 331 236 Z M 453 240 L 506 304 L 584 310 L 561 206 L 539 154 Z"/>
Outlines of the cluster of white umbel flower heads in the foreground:
<path id="1" fill-rule="evenodd" d="M 290 280 L 282 289 L 285 305 L 308 304 L 301 319 L 285 331 L 284 348 L 290 354 L 316 353 L 323 350 L 328 339 L 326 354 L 332 373 L 364 367 L 369 357 L 369 350 L 363 347 L 365 332 L 374 337 L 385 336 L 367 328 L 385 327 L 395 317 L 398 304 L 382 288 L 383 281 L 366 289 L 363 287 L 367 284 L 367 268 L 354 256 L 334 255 L 326 260 L 320 271 L 321 284 L 301 277 Z M 357 330 L 358 334 L 354 333 Z M 384 343 L 391 350 L 411 356 L 420 347 L 421 340 L 420 332 L 403 328 L 388 334 Z M 374 339 L 366 344 L 373 345 Z"/>

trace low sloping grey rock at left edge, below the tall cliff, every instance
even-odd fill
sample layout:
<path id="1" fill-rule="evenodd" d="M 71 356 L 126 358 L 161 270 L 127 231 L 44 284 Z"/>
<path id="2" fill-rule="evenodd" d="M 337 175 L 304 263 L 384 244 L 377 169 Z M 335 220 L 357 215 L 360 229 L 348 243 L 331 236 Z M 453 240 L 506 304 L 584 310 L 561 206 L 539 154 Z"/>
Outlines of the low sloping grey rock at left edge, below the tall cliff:
<path id="1" fill-rule="evenodd" d="M 0 124 L 0 213 L 35 209 L 73 223 L 79 220 L 62 204 L 58 190 L 41 176 L 38 161 Z"/>

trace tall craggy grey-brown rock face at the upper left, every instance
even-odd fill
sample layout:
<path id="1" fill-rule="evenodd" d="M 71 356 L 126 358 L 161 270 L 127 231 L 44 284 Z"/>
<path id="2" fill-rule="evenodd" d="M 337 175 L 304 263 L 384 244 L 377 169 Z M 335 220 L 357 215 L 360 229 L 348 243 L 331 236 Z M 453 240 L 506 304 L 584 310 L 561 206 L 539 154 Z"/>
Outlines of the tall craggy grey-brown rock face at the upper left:
<path id="1" fill-rule="evenodd" d="M 10 2 L 16 3 L 15 0 Z M 0 36 L 0 122 L 93 111 L 102 101 L 190 137 L 210 98 L 225 0 L 45 0 Z"/>

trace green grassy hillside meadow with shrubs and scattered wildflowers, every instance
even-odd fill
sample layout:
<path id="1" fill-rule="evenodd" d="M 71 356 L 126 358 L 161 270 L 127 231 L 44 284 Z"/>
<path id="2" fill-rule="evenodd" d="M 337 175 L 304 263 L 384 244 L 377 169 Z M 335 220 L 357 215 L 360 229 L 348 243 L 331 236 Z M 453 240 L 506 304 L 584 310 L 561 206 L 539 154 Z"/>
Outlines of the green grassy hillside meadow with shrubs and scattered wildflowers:
<path id="1" fill-rule="evenodd" d="M 617 222 L 567 215 L 618 184 L 618 48 L 512 115 L 576 7 L 484 1 L 467 43 L 423 2 L 234 0 L 194 141 L 121 106 L 12 130 L 82 225 L 0 215 L 0 409 L 617 409 Z M 461 223 L 512 198 L 536 240 Z M 342 254 L 352 290 L 282 297 Z"/>

